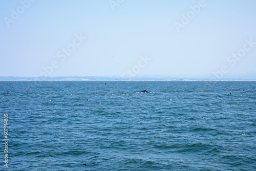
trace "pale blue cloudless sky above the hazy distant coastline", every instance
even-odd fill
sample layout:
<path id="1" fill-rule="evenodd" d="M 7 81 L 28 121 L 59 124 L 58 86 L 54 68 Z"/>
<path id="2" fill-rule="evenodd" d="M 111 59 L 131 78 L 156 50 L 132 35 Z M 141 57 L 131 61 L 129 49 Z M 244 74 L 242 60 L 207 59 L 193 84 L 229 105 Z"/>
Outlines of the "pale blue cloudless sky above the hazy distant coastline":
<path id="1" fill-rule="evenodd" d="M 253 73 L 255 9 L 253 0 L 2 1 L 0 76 Z"/>

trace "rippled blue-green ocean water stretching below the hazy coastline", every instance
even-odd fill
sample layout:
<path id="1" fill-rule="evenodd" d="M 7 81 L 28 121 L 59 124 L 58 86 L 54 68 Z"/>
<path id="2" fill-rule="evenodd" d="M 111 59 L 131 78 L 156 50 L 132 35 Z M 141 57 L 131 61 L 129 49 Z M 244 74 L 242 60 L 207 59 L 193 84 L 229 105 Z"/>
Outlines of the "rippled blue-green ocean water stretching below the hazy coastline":
<path id="1" fill-rule="evenodd" d="M 8 168 L 2 145 L 0 170 L 256 170 L 255 81 L 0 81 L 0 88 L 9 138 Z"/>

